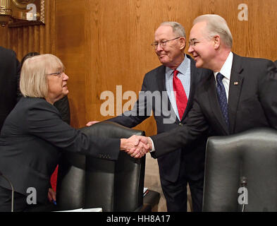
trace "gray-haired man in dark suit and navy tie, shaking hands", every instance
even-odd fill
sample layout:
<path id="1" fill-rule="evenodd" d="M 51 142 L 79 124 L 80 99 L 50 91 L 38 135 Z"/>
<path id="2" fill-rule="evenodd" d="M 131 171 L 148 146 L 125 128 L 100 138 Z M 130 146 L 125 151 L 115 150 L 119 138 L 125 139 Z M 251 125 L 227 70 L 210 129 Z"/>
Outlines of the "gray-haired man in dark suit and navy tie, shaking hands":
<path id="1" fill-rule="evenodd" d="M 240 57 L 231 47 L 232 35 L 223 18 L 195 19 L 188 51 L 197 67 L 214 73 L 198 86 L 183 127 L 152 136 L 152 141 L 148 138 L 152 155 L 159 157 L 181 146 L 186 150 L 207 129 L 216 136 L 259 127 L 277 129 L 276 66 L 267 59 Z"/>

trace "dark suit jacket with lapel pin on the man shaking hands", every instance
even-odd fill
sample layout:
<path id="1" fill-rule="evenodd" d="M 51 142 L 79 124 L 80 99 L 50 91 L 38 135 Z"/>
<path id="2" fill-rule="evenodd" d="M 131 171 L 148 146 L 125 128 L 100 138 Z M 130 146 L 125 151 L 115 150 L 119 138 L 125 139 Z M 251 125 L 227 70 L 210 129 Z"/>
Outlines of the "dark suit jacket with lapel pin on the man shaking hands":
<path id="1" fill-rule="evenodd" d="M 185 125 L 170 133 L 152 136 L 155 156 L 186 147 L 207 129 L 212 129 L 215 136 L 226 136 L 259 127 L 277 129 L 277 69 L 272 61 L 234 54 L 228 114 L 229 128 L 221 114 L 214 73 L 211 73 L 198 86 Z"/>

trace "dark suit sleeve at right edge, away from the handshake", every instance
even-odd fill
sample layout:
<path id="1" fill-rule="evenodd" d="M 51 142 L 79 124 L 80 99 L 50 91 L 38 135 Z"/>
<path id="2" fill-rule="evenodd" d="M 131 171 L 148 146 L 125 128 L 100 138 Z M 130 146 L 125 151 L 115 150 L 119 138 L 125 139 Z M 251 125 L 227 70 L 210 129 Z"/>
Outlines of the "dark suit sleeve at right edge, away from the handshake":
<path id="1" fill-rule="evenodd" d="M 277 129 L 277 68 L 268 61 L 265 69 L 260 76 L 259 98 L 270 126 Z"/>

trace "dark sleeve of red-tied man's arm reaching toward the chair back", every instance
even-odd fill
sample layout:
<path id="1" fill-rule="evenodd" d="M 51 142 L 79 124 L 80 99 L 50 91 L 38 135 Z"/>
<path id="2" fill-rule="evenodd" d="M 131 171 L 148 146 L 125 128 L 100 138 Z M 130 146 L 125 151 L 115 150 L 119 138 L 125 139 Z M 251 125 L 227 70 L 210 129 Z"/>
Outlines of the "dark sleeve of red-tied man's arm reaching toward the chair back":
<path id="1" fill-rule="evenodd" d="M 113 117 L 106 121 L 113 121 L 129 128 L 132 128 L 142 123 L 142 121 L 144 121 L 151 115 L 152 111 L 152 106 L 150 106 L 150 103 L 147 102 L 147 97 L 145 95 L 146 92 L 147 76 L 144 76 L 142 90 L 139 93 L 139 98 L 137 102 L 135 102 L 133 109 L 131 109 L 130 111 L 123 112 L 123 114 L 119 115 L 118 117 Z"/>

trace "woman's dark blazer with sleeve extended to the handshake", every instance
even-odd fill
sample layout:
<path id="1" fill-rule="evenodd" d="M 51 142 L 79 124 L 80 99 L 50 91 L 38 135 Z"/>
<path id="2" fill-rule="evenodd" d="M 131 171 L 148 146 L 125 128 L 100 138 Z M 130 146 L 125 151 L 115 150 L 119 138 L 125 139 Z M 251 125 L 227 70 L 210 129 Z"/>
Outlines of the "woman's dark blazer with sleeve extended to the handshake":
<path id="1" fill-rule="evenodd" d="M 88 137 L 62 121 L 61 114 L 42 98 L 21 97 L 8 115 L 0 136 L 0 171 L 15 191 L 37 190 L 37 201 L 47 201 L 49 181 L 61 149 L 116 160 L 120 139 Z M 11 189 L 0 178 L 0 186 Z"/>

